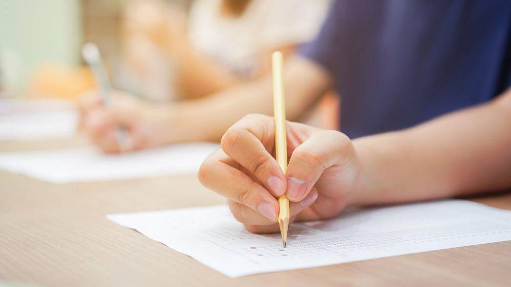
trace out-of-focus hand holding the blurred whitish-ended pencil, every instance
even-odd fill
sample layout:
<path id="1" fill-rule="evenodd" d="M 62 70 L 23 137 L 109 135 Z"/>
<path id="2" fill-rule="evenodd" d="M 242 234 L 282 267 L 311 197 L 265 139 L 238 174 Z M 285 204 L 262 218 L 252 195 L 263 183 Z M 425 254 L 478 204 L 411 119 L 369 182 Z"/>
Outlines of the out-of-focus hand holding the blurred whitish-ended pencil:
<path id="1" fill-rule="evenodd" d="M 127 129 L 133 150 L 171 141 L 165 109 L 121 91 L 114 91 L 112 96 L 108 107 L 103 105 L 96 90 L 83 94 L 78 102 L 79 131 L 85 132 L 104 152 L 122 151 L 115 137 L 115 129 L 121 126 Z"/>

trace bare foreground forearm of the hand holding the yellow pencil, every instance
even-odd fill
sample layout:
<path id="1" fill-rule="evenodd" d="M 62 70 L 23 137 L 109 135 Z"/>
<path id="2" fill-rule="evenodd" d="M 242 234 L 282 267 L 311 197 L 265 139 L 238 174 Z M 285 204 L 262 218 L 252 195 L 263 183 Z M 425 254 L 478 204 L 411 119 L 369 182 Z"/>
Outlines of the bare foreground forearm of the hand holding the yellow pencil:
<path id="1" fill-rule="evenodd" d="M 511 95 L 420 126 L 354 140 L 355 204 L 455 197 L 511 187 Z"/>

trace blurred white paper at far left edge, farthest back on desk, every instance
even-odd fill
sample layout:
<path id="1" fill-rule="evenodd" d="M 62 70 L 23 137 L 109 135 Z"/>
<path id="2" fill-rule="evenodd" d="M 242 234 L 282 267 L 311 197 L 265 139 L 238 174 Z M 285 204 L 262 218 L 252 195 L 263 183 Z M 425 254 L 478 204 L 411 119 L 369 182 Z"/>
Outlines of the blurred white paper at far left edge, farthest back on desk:
<path id="1" fill-rule="evenodd" d="M 71 137 L 78 115 L 72 104 L 51 100 L 0 100 L 0 139 Z"/>

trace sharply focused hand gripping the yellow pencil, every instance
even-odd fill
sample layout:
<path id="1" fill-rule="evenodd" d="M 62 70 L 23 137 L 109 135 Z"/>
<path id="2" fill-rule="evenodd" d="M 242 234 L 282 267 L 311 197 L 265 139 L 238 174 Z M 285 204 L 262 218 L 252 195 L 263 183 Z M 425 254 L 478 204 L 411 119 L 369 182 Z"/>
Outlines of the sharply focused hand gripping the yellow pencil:
<path id="1" fill-rule="evenodd" d="M 251 232 L 278 231 L 278 202 L 286 194 L 291 220 L 337 216 L 358 189 L 360 163 L 350 139 L 287 123 L 289 164 L 284 175 L 274 155 L 273 118 L 247 115 L 222 137 L 222 148 L 199 170 L 201 183 L 228 198 L 234 217 Z"/>

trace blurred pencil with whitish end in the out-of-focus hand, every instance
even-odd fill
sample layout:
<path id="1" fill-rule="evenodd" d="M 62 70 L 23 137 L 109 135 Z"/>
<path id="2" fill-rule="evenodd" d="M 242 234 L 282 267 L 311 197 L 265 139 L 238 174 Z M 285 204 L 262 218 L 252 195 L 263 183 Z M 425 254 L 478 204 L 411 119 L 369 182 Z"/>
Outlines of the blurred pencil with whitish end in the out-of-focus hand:
<path id="1" fill-rule="evenodd" d="M 103 98 L 103 104 L 108 105 L 111 101 L 111 94 L 113 91 L 112 84 L 108 79 L 105 67 L 101 62 L 101 54 L 98 46 L 94 43 L 85 43 L 82 48 L 82 56 L 87 62 L 92 71 L 92 76 L 101 90 Z M 131 138 L 128 131 L 124 127 L 118 127 L 114 131 L 115 139 L 121 149 L 121 151 L 128 151 L 132 149 Z"/>

